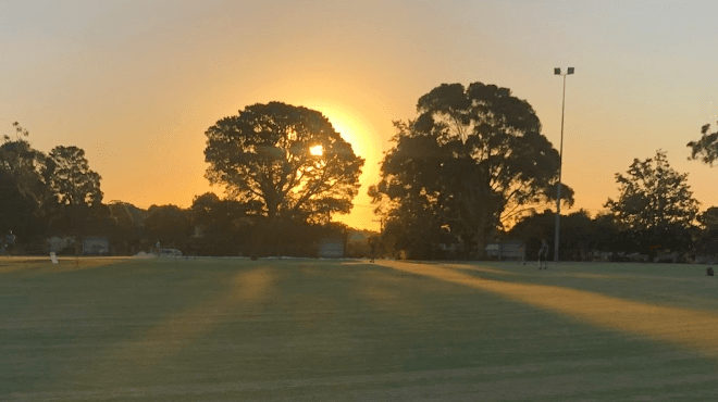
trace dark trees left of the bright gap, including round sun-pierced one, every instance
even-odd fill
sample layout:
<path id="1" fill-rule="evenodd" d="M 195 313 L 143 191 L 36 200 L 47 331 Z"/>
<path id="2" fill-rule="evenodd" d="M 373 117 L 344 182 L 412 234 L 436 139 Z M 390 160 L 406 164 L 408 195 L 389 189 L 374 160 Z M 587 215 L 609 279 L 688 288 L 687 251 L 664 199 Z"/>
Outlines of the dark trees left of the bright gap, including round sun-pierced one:
<path id="1" fill-rule="evenodd" d="M 315 255 L 347 213 L 363 160 L 321 113 L 280 102 L 256 104 L 210 127 L 207 178 L 227 197 L 196 197 L 189 209 L 102 203 L 100 175 L 82 149 L 32 148 L 17 123 L 0 147 L 0 230 L 39 252 L 51 236 L 109 237 L 114 252 L 165 248 L 211 255 Z"/>

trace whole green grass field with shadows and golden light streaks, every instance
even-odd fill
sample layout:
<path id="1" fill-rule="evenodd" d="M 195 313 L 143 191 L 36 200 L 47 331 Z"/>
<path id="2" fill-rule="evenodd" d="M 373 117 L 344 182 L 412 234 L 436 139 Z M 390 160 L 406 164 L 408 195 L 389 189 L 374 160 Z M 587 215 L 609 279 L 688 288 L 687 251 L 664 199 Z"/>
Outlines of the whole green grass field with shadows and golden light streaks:
<path id="1" fill-rule="evenodd" d="M 0 259 L 0 400 L 718 400 L 705 266 Z"/>

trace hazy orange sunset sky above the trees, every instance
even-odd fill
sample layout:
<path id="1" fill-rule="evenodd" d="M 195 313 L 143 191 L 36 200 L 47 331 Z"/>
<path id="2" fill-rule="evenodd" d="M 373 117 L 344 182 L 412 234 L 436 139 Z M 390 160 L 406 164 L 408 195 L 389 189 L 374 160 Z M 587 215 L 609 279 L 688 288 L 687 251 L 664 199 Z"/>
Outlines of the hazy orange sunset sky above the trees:
<path id="1" fill-rule="evenodd" d="M 367 159 L 348 217 L 419 97 L 443 83 L 508 87 L 560 141 L 564 181 L 595 214 L 615 174 L 668 152 L 702 209 L 718 166 L 685 145 L 718 120 L 715 1 L 2 1 L 0 133 L 77 146 L 104 200 L 189 206 L 210 187 L 205 130 L 253 103 L 323 112 Z"/>

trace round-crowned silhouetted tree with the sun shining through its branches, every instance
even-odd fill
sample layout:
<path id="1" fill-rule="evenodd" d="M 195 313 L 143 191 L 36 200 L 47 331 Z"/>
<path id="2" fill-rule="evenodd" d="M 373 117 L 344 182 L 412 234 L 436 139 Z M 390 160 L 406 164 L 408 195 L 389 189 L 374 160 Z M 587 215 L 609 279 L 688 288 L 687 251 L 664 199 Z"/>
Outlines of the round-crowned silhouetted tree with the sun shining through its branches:
<path id="1" fill-rule="evenodd" d="M 207 133 L 207 178 L 261 213 L 326 221 L 348 213 L 363 160 L 320 112 L 281 102 L 255 104 Z M 310 152 L 322 147 L 322 153 Z"/>

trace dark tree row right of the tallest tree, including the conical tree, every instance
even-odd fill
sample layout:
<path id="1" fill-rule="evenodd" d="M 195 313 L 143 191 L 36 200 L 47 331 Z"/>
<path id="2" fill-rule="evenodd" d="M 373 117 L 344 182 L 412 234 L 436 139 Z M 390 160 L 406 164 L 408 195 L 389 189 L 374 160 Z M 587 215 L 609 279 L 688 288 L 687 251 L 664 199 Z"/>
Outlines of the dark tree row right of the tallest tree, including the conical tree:
<path id="1" fill-rule="evenodd" d="M 591 217 L 585 211 L 561 217 L 562 257 L 582 260 L 594 251 L 640 253 L 654 260 L 661 252 L 715 254 L 718 251 L 718 208 L 698 214 L 688 175 L 668 163 L 666 152 L 634 160 L 617 174 L 619 197 Z M 523 239 L 530 254 L 541 238 L 553 239 L 555 214 L 533 213 L 513 226 L 507 237 Z"/>

